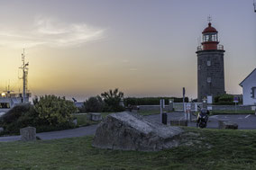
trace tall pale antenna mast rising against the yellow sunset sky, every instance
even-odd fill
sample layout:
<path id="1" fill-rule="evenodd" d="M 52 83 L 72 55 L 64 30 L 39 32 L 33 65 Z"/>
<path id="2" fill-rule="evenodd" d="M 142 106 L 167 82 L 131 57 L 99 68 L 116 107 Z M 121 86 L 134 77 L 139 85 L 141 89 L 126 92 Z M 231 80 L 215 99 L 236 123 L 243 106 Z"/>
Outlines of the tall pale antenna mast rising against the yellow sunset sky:
<path id="1" fill-rule="evenodd" d="M 25 49 L 23 49 L 23 54 L 22 54 L 22 61 L 23 61 L 23 66 L 20 67 L 21 69 L 23 69 L 23 103 L 26 103 L 28 101 L 26 101 L 26 94 L 27 94 L 27 84 L 28 84 L 28 71 L 29 71 L 29 63 L 25 64 Z"/>

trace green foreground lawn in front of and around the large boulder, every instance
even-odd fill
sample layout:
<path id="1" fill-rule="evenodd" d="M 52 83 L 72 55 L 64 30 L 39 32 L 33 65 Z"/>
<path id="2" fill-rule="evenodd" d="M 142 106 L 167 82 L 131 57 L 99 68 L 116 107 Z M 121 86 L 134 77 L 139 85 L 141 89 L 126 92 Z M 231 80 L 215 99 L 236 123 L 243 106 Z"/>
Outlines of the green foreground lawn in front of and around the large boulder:
<path id="1" fill-rule="evenodd" d="M 93 137 L 0 143 L 0 169 L 256 169 L 256 130 L 186 128 L 160 152 L 92 148 Z"/>

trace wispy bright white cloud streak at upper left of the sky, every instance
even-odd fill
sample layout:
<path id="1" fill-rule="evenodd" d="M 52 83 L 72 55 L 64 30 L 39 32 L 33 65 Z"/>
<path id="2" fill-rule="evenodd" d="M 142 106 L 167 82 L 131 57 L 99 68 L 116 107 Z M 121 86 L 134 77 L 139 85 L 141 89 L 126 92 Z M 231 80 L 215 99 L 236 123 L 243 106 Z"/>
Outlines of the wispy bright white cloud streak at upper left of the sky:
<path id="1" fill-rule="evenodd" d="M 73 47 L 104 38 L 104 29 L 86 23 L 65 23 L 43 17 L 36 17 L 32 26 L 26 29 L 0 29 L 0 46 L 13 48 L 38 45 Z"/>

